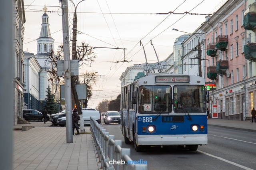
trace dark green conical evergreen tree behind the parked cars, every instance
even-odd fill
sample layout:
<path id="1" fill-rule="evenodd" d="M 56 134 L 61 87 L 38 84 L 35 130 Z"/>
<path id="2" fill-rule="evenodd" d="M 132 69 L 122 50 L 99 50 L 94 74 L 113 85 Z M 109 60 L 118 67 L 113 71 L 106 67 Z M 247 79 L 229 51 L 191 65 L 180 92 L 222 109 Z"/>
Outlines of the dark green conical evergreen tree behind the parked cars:
<path id="1" fill-rule="evenodd" d="M 58 106 L 56 105 L 56 103 L 54 101 L 54 95 L 52 94 L 52 91 L 49 86 L 48 86 L 46 92 L 47 92 L 47 95 L 46 95 L 47 98 L 45 98 L 46 105 L 44 106 L 44 108 L 46 108 L 48 114 L 50 114 L 50 115 L 52 115 L 54 113 L 58 113 Z"/>

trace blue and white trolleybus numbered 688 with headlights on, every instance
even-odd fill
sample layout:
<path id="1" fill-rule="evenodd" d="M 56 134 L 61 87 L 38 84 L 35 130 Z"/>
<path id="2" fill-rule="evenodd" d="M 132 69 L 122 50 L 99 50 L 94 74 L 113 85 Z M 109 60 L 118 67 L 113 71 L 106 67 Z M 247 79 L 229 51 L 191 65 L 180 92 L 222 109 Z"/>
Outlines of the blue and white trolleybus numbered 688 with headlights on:
<path id="1" fill-rule="evenodd" d="M 137 152 L 177 145 L 197 150 L 207 144 L 205 80 L 194 75 L 156 74 L 121 90 L 121 130 Z"/>

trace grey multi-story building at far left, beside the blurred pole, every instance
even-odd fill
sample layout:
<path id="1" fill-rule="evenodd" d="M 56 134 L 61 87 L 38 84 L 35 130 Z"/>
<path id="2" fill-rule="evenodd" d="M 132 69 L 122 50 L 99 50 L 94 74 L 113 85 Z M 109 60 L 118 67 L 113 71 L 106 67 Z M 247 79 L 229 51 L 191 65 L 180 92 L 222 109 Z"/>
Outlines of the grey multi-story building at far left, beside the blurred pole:
<path id="1" fill-rule="evenodd" d="M 23 92 L 24 92 L 24 24 L 25 11 L 23 0 L 14 0 L 13 3 L 13 54 L 14 54 L 14 125 L 17 124 L 19 118 L 22 118 L 23 108 Z"/>

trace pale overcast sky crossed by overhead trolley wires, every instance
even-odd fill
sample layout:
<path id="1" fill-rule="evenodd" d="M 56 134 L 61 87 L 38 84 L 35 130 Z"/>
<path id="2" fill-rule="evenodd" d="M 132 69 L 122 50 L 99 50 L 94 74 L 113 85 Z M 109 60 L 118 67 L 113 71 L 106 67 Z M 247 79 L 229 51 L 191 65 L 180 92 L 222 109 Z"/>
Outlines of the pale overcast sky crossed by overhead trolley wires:
<path id="1" fill-rule="evenodd" d="M 81 0 L 72 0 L 77 5 Z M 173 52 L 176 38 L 182 32 L 194 32 L 205 21 L 204 14 L 212 14 L 226 0 L 84 0 L 77 6 L 77 45 L 81 42 L 96 48 L 97 55 L 91 66 L 79 70 L 98 72 L 98 82 L 93 87 L 93 96 L 88 107 L 95 108 L 102 99 L 115 99 L 120 94 L 120 76 L 126 67 L 145 63 L 145 55 L 140 46 L 142 41 L 148 63 L 157 62 L 150 40 L 154 44 L 160 60 Z M 55 51 L 62 44 L 61 4 L 58 0 L 24 0 L 25 33 L 24 51 L 36 54 L 36 39 L 39 38 L 44 5 L 48 8 L 50 32 L 54 38 Z M 68 0 L 69 34 L 72 36 L 74 5 Z M 157 14 L 174 12 L 175 14 Z M 194 13 L 203 15 L 177 14 Z M 124 56 L 125 53 L 125 56 Z M 70 55 L 71 56 L 71 55 Z M 116 62 L 116 61 L 130 62 Z M 119 86 L 119 87 L 118 87 Z"/>

